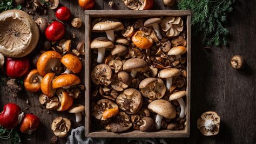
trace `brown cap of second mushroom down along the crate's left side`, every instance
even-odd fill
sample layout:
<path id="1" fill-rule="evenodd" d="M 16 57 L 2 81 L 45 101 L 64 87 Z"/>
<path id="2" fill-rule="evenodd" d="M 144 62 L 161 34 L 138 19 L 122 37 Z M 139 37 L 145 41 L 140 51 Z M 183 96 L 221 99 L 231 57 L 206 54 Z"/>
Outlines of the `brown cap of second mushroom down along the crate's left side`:
<path id="1" fill-rule="evenodd" d="M 111 40 L 107 39 L 106 37 L 98 37 L 93 39 L 91 42 L 91 49 L 112 49 L 113 47 L 114 44 L 111 42 Z"/>

